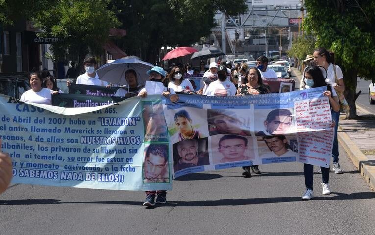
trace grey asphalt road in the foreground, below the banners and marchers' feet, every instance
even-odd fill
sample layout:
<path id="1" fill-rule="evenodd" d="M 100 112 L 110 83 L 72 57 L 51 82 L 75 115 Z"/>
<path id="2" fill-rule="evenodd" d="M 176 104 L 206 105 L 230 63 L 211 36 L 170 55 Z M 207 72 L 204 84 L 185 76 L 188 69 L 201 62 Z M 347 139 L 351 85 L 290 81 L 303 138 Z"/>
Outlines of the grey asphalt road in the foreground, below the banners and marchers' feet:
<path id="1" fill-rule="evenodd" d="M 168 202 L 142 206 L 143 192 L 14 185 L 0 196 L 0 234 L 375 234 L 375 193 L 340 149 L 333 193 L 302 201 L 303 165 L 261 165 L 190 174 L 173 182 Z"/>

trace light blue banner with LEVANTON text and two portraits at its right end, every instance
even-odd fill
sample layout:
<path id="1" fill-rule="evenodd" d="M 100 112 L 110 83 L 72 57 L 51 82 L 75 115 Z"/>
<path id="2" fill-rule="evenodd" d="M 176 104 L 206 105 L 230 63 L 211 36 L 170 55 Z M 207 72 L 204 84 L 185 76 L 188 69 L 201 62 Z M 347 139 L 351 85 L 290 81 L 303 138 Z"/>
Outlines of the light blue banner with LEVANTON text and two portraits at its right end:
<path id="1" fill-rule="evenodd" d="M 160 95 L 80 108 L 17 103 L 0 95 L 0 110 L 1 150 L 12 157 L 12 183 L 172 189 Z"/>

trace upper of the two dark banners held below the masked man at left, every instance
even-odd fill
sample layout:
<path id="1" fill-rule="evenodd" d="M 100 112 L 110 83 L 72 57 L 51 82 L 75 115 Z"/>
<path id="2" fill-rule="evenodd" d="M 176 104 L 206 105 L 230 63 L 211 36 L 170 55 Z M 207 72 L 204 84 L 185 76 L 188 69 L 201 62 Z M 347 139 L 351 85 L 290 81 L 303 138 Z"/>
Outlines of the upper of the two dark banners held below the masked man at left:
<path id="1" fill-rule="evenodd" d="M 88 96 L 115 96 L 120 87 L 92 86 L 72 83 L 69 87 L 69 94 L 81 94 Z"/>

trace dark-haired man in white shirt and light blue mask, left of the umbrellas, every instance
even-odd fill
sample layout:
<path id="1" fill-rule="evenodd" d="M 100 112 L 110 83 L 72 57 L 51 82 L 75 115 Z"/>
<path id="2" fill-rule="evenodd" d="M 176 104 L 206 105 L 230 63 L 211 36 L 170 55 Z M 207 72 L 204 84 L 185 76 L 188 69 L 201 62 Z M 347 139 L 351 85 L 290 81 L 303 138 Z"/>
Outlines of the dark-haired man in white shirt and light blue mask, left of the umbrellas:
<path id="1" fill-rule="evenodd" d="M 98 74 L 95 72 L 97 68 L 97 61 L 94 57 L 89 57 L 83 62 L 86 73 L 78 76 L 75 84 L 92 85 L 92 86 L 105 86 L 108 87 L 108 82 L 99 79 Z M 70 86 L 70 81 L 67 82 Z"/>

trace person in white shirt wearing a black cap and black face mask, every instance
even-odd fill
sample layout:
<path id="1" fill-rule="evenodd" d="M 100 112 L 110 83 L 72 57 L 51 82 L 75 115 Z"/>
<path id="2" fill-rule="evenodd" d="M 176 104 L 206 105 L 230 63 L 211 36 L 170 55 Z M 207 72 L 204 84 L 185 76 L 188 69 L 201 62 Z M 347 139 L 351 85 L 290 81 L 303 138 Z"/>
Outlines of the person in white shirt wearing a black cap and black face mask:
<path id="1" fill-rule="evenodd" d="M 227 69 L 225 65 L 218 67 L 218 80 L 211 82 L 203 95 L 206 96 L 234 96 L 236 95 L 236 87 L 227 80 Z"/>

